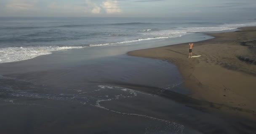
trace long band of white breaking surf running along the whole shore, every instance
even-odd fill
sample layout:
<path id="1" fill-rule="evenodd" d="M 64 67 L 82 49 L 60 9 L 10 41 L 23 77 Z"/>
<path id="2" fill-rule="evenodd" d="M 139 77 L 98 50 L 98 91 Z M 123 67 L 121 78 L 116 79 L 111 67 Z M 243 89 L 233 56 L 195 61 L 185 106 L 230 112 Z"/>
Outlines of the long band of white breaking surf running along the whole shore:
<path id="1" fill-rule="evenodd" d="M 130 23 L 120 23 L 120 24 L 130 24 Z M 137 24 L 137 23 L 131 23 Z M 139 23 L 141 24 L 141 23 Z M 180 27 L 173 28 L 169 30 L 152 30 L 152 29 L 144 29 L 139 34 L 142 35 L 141 39 L 133 39 L 128 41 L 120 41 L 114 43 L 105 43 L 105 44 L 90 44 L 90 45 L 82 45 L 82 46 L 33 46 L 33 47 L 7 47 L 0 48 L 0 63 L 5 62 L 16 62 L 26 59 L 32 59 L 40 55 L 51 54 L 53 51 L 65 50 L 65 49 L 80 49 L 88 46 L 115 46 L 115 45 L 123 45 L 123 44 L 131 44 L 139 41 L 148 41 L 148 40 L 160 40 L 160 39 L 168 39 L 180 37 L 189 33 L 197 33 L 197 32 L 210 32 L 210 31 L 225 31 L 232 30 L 239 27 L 244 26 L 256 26 L 256 23 L 245 23 L 245 24 L 223 24 L 214 27 Z M 150 32 L 147 32 L 150 31 Z M 115 36 L 123 36 L 123 35 L 115 35 Z M 144 37 L 144 38 L 143 38 Z"/>

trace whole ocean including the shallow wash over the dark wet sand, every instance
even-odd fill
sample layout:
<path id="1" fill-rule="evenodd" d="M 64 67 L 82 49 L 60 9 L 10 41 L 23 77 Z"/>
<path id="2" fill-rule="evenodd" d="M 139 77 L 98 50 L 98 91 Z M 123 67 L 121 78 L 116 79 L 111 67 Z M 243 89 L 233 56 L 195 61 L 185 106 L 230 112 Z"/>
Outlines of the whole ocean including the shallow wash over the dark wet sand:
<path id="1" fill-rule="evenodd" d="M 175 65 L 126 53 L 211 39 L 204 33 L 243 26 L 256 21 L 1 17 L 0 131 L 236 134 L 224 118 L 185 105 L 201 102 L 188 99 Z"/>

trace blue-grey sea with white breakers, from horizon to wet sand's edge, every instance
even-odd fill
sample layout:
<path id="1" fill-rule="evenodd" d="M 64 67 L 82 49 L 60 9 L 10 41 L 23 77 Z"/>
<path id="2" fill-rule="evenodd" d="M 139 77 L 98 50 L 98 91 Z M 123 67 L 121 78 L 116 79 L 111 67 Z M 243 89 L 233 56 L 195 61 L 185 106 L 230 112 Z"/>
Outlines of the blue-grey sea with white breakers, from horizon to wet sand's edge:
<path id="1" fill-rule="evenodd" d="M 255 25 L 253 19 L 1 17 L 0 63 L 64 49 L 163 41 Z"/>

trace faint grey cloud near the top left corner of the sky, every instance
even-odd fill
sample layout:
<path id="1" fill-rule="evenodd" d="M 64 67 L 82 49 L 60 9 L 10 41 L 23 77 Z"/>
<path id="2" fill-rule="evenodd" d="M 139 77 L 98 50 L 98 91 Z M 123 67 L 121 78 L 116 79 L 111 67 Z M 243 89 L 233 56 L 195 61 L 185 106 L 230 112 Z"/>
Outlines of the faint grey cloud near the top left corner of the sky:
<path id="1" fill-rule="evenodd" d="M 35 9 L 37 0 L 10 0 L 6 4 L 6 8 L 16 11 L 25 11 Z"/>

